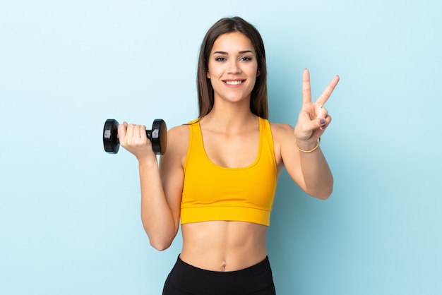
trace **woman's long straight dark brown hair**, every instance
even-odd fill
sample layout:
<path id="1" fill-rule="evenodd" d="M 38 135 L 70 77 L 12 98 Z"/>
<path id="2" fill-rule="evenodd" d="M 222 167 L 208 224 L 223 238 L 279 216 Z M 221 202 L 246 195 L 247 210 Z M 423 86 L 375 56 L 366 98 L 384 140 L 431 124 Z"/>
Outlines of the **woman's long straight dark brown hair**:
<path id="1" fill-rule="evenodd" d="M 233 17 L 222 18 L 217 21 L 205 34 L 203 43 L 201 44 L 200 54 L 198 58 L 197 88 L 198 88 L 198 107 L 199 119 L 207 115 L 213 108 L 215 95 L 213 92 L 210 79 L 207 78 L 209 55 L 212 51 L 213 44 L 217 37 L 229 32 L 241 32 L 251 40 L 256 51 L 258 59 L 259 76 L 256 77 L 256 83 L 251 92 L 250 110 L 256 116 L 268 119 L 268 101 L 267 101 L 267 66 L 265 64 L 264 43 L 258 30 L 247 23 L 246 20 Z"/>

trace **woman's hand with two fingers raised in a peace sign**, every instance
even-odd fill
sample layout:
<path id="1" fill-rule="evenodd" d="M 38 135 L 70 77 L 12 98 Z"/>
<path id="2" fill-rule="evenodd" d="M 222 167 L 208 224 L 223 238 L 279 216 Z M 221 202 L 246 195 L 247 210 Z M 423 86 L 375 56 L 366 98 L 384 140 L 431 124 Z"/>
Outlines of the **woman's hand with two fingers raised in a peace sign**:
<path id="1" fill-rule="evenodd" d="M 297 143 L 304 143 L 306 146 L 312 143 L 316 144 L 318 138 L 324 133 L 325 128 L 330 124 L 331 116 L 323 106 L 338 82 L 339 76 L 335 76 L 321 96 L 318 97 L 318 100 L 312 102 L 310 74 L 309 70 L 304 70 L 302 75 L 302 108 L 299 113 L 298 122 L 294 127 L 294 136 Z"/>

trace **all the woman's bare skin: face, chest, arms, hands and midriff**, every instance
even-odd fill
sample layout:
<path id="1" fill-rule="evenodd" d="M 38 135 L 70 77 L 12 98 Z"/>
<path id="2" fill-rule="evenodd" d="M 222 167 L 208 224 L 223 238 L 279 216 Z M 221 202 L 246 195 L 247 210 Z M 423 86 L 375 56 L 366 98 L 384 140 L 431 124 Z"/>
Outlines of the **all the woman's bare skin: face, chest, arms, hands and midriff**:
<path id="1" fill-rule="evenodd" d="M 210 53 L 207 77 L 215 92 L 211 112 L 200 121 L 209 159 L 222 167 L 246 167 L 258 152 L 258 117 L 250 111 L 251 90 L 259 75 L 253 44 L 240 32 L 221 35 Z M 331 117 L 323 107 L 338 84 L 335 76 L 311 101 L 309 71 L 302 78 L 302 107 L 293 128 L 270 124 L 275 145 L 277 175 L 285 167 L 306 193 L 326 199 L 333 190 L 333 176 L 317 148 Z M 157 157 L 145 136 L 145 126 L 121 124 L 121 146 L 136 156 L 141 180 L 141 218 L 150 243 L 157 250 L 170 246 L 179 229 L 184 160 L 189 145 L 189 126 L 177 126 L 167 134 L 167 152 L 158 168 Z M 251 152 L 255 151 L 255 152 Z M 211 221 L 183 224 L 181 260 L 215 271 L 241 270 L 267 255 L 267 227 L 250 222 Z"/>

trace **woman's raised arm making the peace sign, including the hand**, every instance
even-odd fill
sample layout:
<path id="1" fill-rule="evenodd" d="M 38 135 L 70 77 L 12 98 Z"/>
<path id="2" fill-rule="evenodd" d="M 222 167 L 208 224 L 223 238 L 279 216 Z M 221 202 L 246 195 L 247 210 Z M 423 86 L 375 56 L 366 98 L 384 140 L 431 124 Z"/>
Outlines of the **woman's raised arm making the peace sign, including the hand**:
<path id="1" fill-rule="evenodd" d="M 333 191 L 333 175 L 319 146 L 321 136 L 331 122 L 324 104 L 338 84 L 335 76 L 316 102 L 311 101 L 309 71 L 302 76 L 302 108 L 294 128 L 277 128 L 282 163 L 289 176 L 309 195 L 326 199 Z"/>

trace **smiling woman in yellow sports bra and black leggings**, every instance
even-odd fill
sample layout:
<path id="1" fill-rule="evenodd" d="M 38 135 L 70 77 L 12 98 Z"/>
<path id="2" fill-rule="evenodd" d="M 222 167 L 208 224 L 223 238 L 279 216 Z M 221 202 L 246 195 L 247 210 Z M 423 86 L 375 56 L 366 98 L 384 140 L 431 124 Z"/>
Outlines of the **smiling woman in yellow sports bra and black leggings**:
<path id="1" fill-rule="evenodd" d="M 145 126 L 121 124 L 136 156 L 143 226 L 156 249 L 170 246 L 181 217 L 183 248 L 163 294 L 275 294 L 265 233 L 283 167 L 306 193 L 328 198 L 333 176 L 319 148 L 331 117 L 323 104 L 333 78 L 311 102 L 309 71 L 295 128 L 268 119 L 265 50 L 241 18 L 208 30 L 198 60 L 200 116 L 168 132 L 157 157 Z"/>

